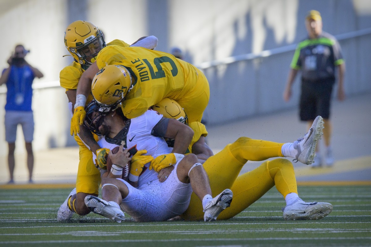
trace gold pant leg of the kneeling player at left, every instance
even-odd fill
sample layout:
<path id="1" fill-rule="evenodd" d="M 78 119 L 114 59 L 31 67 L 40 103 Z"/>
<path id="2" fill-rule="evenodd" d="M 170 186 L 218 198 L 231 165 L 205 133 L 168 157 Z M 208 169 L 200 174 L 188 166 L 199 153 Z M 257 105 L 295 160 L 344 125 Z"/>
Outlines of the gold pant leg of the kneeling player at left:
<path id="1" fill-rule="evenodd" d="M 92 151 L 79 146 L 79 168 L 76 178 L 76 193 L 98 194 L 101 184 L 101 173 L 93 163 Z"/>

